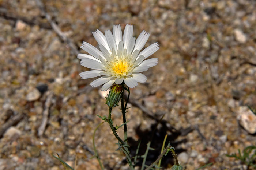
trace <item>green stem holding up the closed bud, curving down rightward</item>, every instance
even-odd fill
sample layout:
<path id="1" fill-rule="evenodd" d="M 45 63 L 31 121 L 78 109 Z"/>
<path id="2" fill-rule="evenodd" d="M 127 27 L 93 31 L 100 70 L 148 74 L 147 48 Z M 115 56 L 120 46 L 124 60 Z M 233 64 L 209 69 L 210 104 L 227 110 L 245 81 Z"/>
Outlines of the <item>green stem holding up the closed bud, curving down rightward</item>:
<path id="1" fill-rule="evenodd" d="M 112 107 L 109 107 L 109 117 L 108 117 L 108 123 L 109 123 L 109 126 L 114 134 L 114 136 L 117 138 L 117 140 L 121 143 L 122 147 L 121 149 L 124 151 L 125 155 L 126 155 L 126 158 L 127 158 L 127 161 L 128 161 L 128 164 L 129 164 L 129 167 L 131 170 L 134 170 L 134 167 L 132 165 L 132 161 L 131 161 L 131 157 L 130 157 L 130 154 L 129 154 L 129 150 L 128 150 L 128 147 L 127 147 L 127 144 L 117 135 L 116 133 L 116 129 L 114 128 L 113 124 L 112 124 L 112 119 L 111 119 L 111 112 L 112 112 Z"/>

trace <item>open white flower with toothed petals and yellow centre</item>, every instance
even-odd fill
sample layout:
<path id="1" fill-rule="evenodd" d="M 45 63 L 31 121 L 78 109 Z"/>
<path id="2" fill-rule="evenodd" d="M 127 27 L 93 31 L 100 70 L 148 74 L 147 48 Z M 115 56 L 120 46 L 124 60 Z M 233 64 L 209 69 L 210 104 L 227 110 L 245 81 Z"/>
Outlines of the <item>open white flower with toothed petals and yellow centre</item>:
<path id="1" fill-rule="evenodd" d="M 133 25 L 128 24 L 125 26 L 124 36 L 122 36 L 120 25 L 114 25 L 113 34 L 109 29 L 105 31 L 105 36 L 98 29 L 93 32 L 101 51 L 91 44 L 83 42 L 81 48 L 90 55 L 78 54 L 78 58 L 81 59 L 82 66 L 92 70 L 81 72 L 79 74 L 81 78 L 102 76 L 90 83 L 92 87 L 104 84 L 101 88 L 102 91 L 108 90 L 113 83 L 121 84 L 123 80 L 130 88 L 136 87 L 137 82 L 145 83 L 147 77 L 140 72 L 157 65 L 158 59 L 144 59 L 154 54 L 159 46 L 154 43 L 139 52 L 146 44 L 150 34 L 142 31 L 138 39 L 135 40 L 132 33 Z"/>

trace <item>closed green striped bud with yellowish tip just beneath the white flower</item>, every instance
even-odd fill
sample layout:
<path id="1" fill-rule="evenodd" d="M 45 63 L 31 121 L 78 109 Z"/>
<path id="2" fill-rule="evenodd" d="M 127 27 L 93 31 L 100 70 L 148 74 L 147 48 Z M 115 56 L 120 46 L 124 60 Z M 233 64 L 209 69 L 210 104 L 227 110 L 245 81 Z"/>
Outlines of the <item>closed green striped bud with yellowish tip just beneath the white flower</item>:
<path id="1" fill-rule="evenodd" d="M 108 104 L 109 107 L 118 106 L 119 100 L 121 99 L 122 92 L 123 92 L 123 85 L 113 84 L 110 87 L 106 104 Z"/>

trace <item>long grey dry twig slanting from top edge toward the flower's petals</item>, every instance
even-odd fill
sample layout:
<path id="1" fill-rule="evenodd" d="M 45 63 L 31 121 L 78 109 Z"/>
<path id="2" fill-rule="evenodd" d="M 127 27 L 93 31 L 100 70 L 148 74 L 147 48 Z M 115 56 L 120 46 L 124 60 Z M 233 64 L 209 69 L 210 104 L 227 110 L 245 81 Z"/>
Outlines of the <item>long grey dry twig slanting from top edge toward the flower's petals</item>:
<path id="1" fill-rule="evenodd" d="M 68 44 L 68 46 L 71 48 L 71 51 L 74 55 L 77 55 L 79 53 L 79 51 L 76 48 L 76 45 L 74 44 L 74 42 L 69 39 L 60 29 L 60 27 L 56 24 L 55 21 L 52 20 L 52 17 L 46 12 L 45 6 L 42 3 L 41 0 L 35 0 L 38 7 L 41 9 L 41 11 L 44 13 L 46 19 L 48 20 L 48 22 L 50 23 L 50 25 L 52 26 L 52 29 L 57 33 L 57 35 L 65 42 Z"/>

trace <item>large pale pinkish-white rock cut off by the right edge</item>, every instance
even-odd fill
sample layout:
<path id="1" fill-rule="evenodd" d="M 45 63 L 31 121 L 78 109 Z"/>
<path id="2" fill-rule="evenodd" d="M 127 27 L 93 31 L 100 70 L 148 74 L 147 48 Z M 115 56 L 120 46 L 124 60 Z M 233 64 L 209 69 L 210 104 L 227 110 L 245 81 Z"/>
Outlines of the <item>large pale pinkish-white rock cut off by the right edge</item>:
<path id="1" fill-rule="evenodd" d="M 250 134 L 256 133 L 256 115 L 246 106 L 239 107 L 237 119 L 242 127 Z"/>

